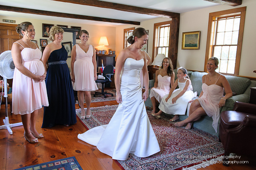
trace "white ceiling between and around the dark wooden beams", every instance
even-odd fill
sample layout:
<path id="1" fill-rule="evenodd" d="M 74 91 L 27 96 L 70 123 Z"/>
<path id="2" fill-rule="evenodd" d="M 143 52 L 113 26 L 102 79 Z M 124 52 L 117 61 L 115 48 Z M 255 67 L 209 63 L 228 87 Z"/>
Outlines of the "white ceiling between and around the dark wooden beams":
<path id="1" fill-rule="evenodd" d="M 219 5 L 218 3 L 212 3 L 205 0 L 103 0 L 107 2 L 120 3 L 131 6 L 144 7 L 149 9 L 157 9 L 168 12 L 183 13 L 197 9 L 203 9 L 210 6 Z M 14 6 L 26 9 L 38 9 L 50 12 L 63 12 L 68 14 L 79 14 L 92 17 L 104 17 L 118 20 L 129 20 L 142 22 L 145 20 L 154 19 L 157 16 L 138 14 L 132 12 L 123 12 L 115 9 L 99 8 L 94 6 L 83 6 L 73 3 L 63 3 L 53 0 L 0 0 L 0 5 L 3 6 Z M 83 23 L 93 24 L 100 26 L 115 26 L 121 25 L 121 23 L 108 23 L 93 20 L 80 20 L 64 17 L 52 17 L 37 14 L 26 14 L 19 12 L 0 11 L 2 16 L 10 17 L 24 17 L 33 18 L 39 20 L 52 20 L 69 23 Z"/>

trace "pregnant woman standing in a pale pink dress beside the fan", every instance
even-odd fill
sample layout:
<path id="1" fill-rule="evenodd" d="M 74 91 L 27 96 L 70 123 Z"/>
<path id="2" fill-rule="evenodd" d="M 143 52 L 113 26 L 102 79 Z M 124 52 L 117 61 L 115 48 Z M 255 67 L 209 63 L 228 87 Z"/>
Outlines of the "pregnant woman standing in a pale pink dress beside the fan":
<path id="1" fill-rule="evenodd" d="M 16 27 L 23 38 L 12 45 L 12 59 L 15 64 L 12 86 L 12 112 L 21 115 L 25 130 L 24 137 L 30 143 L 43 138 L 35 128 L 38 109 L 48 106 L 45 85 L 44 64 L 34 40 L 35 29 L 32 23 L 23 22 Z"/>

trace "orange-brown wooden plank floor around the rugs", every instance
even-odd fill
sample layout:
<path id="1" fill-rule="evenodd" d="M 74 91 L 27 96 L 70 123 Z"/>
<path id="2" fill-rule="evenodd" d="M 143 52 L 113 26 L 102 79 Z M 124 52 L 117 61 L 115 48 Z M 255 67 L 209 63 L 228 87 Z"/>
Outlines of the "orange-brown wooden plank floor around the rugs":
<path id="1" fill-rule="evenodd" d="M 92 103 L 91 107 L 115 105 L 116 101 Z M 4 105 L 2 105 L 4 107 Z M 84 104 L 86 107 L 86 104 Z M 76 105 L 76 109 L 79 106 Z M 0 112 L 0 125 L 3 125 L 5 110 Z M 9 115 L 10 124 L 21 121 L 20 115 Z M 57 125 L 52 128 L 41 128 L 43 109 L 39 110 L 37 130 L 44 134 L 39 143 L 30 144 L 23 137 L 23 126 L 12 127 L 13 135 L 7 130 L 0 130 L 0 170 L 13 170 L 20 167 L 41 164 L 56 159 L 76 156 L 83 170 L 121 170 L 115 161 L 108 155 L 77 138 L 79 133 L 86 131 L 79 120 L 69 127 Z M 231 160 L 231 159 L 230 159 Z M 224 167 L 221 163 L 213 164 L 199 170 L 255 170 L 255 158 L 242 156 L 236 161 L 249 161 L 245 164 L 230 164 Z"/>

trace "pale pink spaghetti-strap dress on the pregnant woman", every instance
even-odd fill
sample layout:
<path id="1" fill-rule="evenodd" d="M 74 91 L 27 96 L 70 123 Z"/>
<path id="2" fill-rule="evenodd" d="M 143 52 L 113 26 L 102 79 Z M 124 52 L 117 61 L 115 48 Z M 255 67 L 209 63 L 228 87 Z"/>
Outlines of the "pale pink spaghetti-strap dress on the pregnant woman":
<path id="1" fill-rule="evenodd" d="M 42 52 L 38 48 L 24 48 L 21 51 L 23 66 L 34 75 L 44 74 L 41 56 Z M 15 115 L 32 113 L 42 108 L 42 105 L 49 106 L 45 81 L 35 81 L 15 68 L 12 84 L 12 113 Z"/>

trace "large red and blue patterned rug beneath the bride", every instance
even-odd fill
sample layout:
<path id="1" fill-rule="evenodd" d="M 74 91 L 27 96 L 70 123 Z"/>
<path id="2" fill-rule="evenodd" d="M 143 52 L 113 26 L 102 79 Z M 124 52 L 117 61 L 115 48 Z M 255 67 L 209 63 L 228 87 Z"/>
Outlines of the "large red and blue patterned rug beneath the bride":
<path id="1" fill-rule="evenodd" d="M 91 118 L 80 121 L 87 129 L 108 124 L 117 106 L 91 108 Z M 124 170 L 195 170 L 221 161 L 224 149 L 216 136 L 196 128 L 175 127 L 169 117 L 155 119 L 150 112 L 147 109 L 161 151 L 147 158 L 130 154 L 126 161 L 118 161 Z M 80 118 L 81 109 L 76 114 Z"/>

